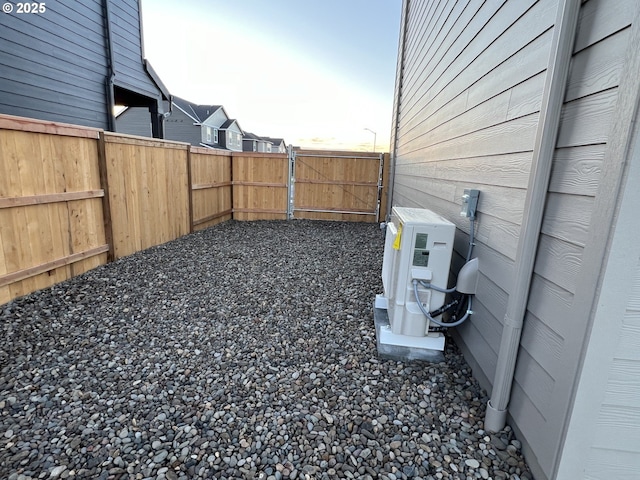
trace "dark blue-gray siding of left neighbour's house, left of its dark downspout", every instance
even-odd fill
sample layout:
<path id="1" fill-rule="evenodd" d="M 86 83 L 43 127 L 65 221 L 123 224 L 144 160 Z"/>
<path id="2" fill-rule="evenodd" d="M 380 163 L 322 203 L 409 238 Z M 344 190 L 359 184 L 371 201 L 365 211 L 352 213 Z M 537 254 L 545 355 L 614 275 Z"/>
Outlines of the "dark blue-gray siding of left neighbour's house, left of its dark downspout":
<path id="1" fill-rule="evenodd" d="M 0 16 L 0 112 L 107 127 L 100 1 Z"/>

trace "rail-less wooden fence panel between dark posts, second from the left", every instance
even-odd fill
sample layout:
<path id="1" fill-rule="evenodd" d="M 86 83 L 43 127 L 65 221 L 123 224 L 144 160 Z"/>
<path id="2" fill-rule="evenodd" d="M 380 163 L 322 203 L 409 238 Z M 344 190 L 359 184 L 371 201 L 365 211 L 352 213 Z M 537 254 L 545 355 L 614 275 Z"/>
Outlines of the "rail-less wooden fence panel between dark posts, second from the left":
<path id="1" fill-rule="evenodd" d="M 189 233 L 186 145 L 108 134 L 105 150 L 115 258 Z"/>

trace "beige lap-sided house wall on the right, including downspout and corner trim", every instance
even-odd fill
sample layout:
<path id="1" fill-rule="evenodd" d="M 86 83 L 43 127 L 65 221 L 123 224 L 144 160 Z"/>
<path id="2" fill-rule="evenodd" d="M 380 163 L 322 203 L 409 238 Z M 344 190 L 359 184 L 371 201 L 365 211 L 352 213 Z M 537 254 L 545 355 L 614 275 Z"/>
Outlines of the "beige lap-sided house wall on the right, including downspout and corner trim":
<path id="1" fill-rule="evenodd" d="M 390 197 L 457 224 L 455 272 L 481 192 L 450 329 L 491 395 L 475 421 L 508 422 L 537 480 L 640 478 L 640 2 L 425 3 L 403 2 Z"/>

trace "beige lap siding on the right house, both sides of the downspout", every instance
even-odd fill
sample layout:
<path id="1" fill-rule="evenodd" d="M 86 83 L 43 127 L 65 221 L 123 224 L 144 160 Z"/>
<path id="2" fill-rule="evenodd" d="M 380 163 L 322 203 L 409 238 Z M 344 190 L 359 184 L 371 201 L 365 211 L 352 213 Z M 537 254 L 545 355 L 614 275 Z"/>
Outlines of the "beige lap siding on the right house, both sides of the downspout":
<path id="1" fill-rule="evenodd" d="M 466 219 L 458 215 L 460 198 L 465 188 L 481 191 L 475 315 L 456 329 L 455 337 L 488 391 L 514 284 L 558 3 L 404 3 L 392 201 L 432 209 L 456 223 L 456 271 L 469 232 Z M 564 460 L 567 419 L 572 418 L 591 301 L 606 253 L 598 229 L 612 218 L 601 218 L 607 212 L 598 207 L 603 202 L 598 196 L 616 193 L 601 185 L 603 162 L 611 156 L 625 58 L 637 56 L 638 43 L 631 39 L 638 8 L 635 0 L 583 2 L 569 77 L 561 85 L 564 104 L 509 404 L 510 423 L 540 479 L 556 478 Z M 637 96 L 627 92 L 623 101 L 629 98 Z M 627 330 L 637 328 L 637 320 L 629 322 Z M 637 339 L 626 341 L 637 346 Z M 612 364 L 609 395 L 616 394 L 620 379 L 615 372 L 624 370 L 621 365 Z M 637 363 L 628 367 L 636 373 L 640 368 Z M 634 385 L 631 390 L 637 390 L 637 381 Z M 618 393 L 630 398 L 629 390 Z M 609 406 L 599 411 L 607 418 L 619 414 Z M 605 428 L 601 433 L 608 438 L 611 432 Z M 637 437 L 627 435 L 640 445 Z"/>

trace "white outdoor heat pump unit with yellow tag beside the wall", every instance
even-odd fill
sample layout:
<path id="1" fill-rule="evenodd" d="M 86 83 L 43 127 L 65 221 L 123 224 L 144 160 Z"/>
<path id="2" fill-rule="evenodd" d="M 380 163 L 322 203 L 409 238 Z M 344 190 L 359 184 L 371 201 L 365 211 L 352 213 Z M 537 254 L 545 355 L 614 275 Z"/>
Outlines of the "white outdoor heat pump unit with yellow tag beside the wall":
<path id="1" fill-rule="evenodd" d="M 382 262 L 383 299 L 389 328 L 379 333 L 381 343 L 444 349 L 444 336 L 429 333 L 429 321 L 418 306 L 413 280 L 447 288 L 456 227 L 431 210 L 394 207 L 387 223 Z M 426 310 L 440 308 L 445 294 L 418 284 L 419 301 Z M 423 340 L 421 340 L 423 338 Z"/>

